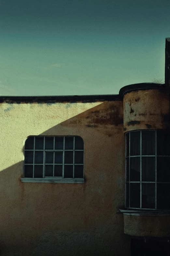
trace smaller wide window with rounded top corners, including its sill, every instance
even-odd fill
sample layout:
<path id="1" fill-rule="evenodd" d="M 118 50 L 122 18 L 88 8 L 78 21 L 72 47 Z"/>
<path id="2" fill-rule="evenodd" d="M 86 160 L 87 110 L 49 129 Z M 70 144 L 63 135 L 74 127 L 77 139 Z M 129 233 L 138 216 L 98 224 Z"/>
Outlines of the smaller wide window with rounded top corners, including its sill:
<path id="1" fill-rule="evenodd" d="M 79 136 L 29 136 L 22 182 L 83 183 L 84 142 Z"/>

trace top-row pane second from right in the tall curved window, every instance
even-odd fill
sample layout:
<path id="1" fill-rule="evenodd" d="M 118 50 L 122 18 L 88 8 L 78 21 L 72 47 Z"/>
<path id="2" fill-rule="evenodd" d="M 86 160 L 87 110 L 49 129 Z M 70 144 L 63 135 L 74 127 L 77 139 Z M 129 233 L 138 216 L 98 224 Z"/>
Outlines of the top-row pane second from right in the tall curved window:
<path id="1" fill-rule="evenodd" d="M 155 155 L 155 131 L 142 131 L 142 155 Z"/>

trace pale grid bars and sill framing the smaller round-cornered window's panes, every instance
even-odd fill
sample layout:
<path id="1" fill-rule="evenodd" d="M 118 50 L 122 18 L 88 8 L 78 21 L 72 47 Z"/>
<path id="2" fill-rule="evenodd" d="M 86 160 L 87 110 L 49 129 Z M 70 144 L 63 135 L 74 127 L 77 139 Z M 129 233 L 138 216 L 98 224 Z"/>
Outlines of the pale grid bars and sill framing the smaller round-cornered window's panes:
<path id="1" fill-rule="evenodd" d="M 34 138 L 34 147 L 32 149 L 25 149 L 24 147 L 24 170 L 23 170 L 23 178 L 21 178 L 21 181 L 22 182 L 56 182 L 56 183 L 84 183 L 84 141 L 82 139 L 82 137 L 80 136 L 28 136 L 28 138 L 30 137 L 33 137 Z M 35 138 L 36 137 L 41 137 L 43 138 L 43 149 L 35 149 Z M 53 138 L 53 149 L 45 149 L 45 139 L 46 138 Z M 55 138 L 56 137 L 60 137 L 60 138 L 63 138 L 63 149 L 55 149 Z M 73 148 L 72 149 L 65 149 L 65 139 L 66 138 L 73 138 Z M 75 149 L 75 138 L 80 138 L 81 139 L 81 147 L 83 149 Z M 26 139 L 26 141 L 27 141 Z M 26 143 L 25 141 L 25 143 Z M 32 142 L 33 143 L 33 142 Z M 52 144 L 51 144 L 52 145 Z M 27 163 L 25 162 L 25 152 L 33 152 L 33 162 L 32 163 Z M 43 162 L 41 163 L 35 163 L 35 152 L 43 152 Z M 53 153 L 53 162 L 52 163 L 47 163 L 46 162 L 46 153 L 47 152 L 52 152 Z M 63 154 L 63 161 L 62 163 L 55 163 L 55 152 L 62 152 Z M 64 162 L 64 154 L 66 154 L 65 152 L 73 152 L 73 162 L 72 163 L 65 163 Z M 75 154 L 76 152 L 83 152 L 83 156 L 81 155 L 80 153 L 80 156 L 81 156 L 81 159 L 82 159 L 82 162 L 81 163 L 77 163 L 78 162 L 78 159 L 75 158 Z M 75 163 L 75 160 L 76 163 Z M 46 166 L 53 166 L 53 175 L 52 176 L 46 176 L 45 175 L 45 168 Z M 54 176 L 54 171 L 55 171 L 55 167 L 57 165 L 60 165 L 62 166 L 62 176 Z M 32 177 L 28 177 L 29 175 L 27 175 L 27 177 L 25 177 L 25 167 L 26 166 L 32 166 L 33 167 L 33 174 L 32 174 Z M 35 167 L 38 167 L 38 166 L 43 166 L 43 174 L 42 174 L 42 177 L 35 177 Z M 69 167 L 67 166 L 73 166 L 73 173 L 71 174 L 70 177 L 65 177 L 65 173 L 64 172 L 64 168 L 68 169 Z M 75 169 L 78 169 L 78 166 L 80 167 L 80 170 L 81 170 L 81 175 L 78 174 L 78 170 L 77 170 L 77 174 L 75 174 Z M 76 168 L 75 168 L 76 167 Z M 82 167 L 83 167 L 83 170 L 82 170 Z M 60 168 L 61 169 L 61 168 Z M 71 168 L 70 168 L 71 169 Z M 83 171 L 83 175 L 82 175 L 82 171 Z M 69 176 L 69 175 L 67 175 Z M 76 177 L 77 176 L 77 177 Z M 81 176 L 81 177 L 78 177 L 78 176 Z M 34 181 L 33 181 L 34 180 Z"/>

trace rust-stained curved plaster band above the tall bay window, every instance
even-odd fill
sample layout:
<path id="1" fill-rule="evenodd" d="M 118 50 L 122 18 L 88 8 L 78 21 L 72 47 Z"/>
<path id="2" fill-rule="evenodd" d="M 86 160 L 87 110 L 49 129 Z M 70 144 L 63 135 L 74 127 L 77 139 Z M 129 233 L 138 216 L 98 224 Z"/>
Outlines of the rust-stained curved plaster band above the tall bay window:
<path id="1" fill-rule="evenodd" d="M 169 128 L 169 93 L 165 89 L 126 93 L 123 109 L 124 132 Z"/>

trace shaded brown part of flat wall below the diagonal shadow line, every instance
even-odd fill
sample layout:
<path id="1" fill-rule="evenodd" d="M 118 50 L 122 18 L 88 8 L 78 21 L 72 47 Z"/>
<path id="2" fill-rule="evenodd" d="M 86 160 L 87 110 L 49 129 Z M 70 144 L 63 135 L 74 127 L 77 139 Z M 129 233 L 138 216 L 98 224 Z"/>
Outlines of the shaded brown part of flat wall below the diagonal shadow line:
<path id="1" fill-rule="evenodd" d="M 86 182 L 22 183 L 23 161 L 2 170 L 2 255 L 80 255 L 85 248 L 86 255 L 119 255 L 127 249 L 115 242 L 127 239 L 116 214 L 124 203 L 122 102 L 101 103 L 39 135 L 81 136 Z"/>

